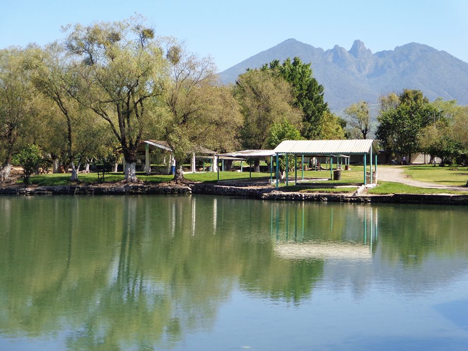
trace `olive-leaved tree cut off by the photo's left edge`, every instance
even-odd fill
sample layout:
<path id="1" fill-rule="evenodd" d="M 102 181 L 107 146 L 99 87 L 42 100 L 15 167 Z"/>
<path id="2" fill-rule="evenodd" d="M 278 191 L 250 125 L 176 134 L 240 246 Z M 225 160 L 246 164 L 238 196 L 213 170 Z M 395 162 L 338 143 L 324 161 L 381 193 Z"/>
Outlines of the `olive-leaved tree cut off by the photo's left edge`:
<path id="1" fill-rule="evenodd" d="M 11 159 L 25 144 L 36 116 L 37 92 L 24 50 L 0 50 L 0 182 L 10 177 Z"/>

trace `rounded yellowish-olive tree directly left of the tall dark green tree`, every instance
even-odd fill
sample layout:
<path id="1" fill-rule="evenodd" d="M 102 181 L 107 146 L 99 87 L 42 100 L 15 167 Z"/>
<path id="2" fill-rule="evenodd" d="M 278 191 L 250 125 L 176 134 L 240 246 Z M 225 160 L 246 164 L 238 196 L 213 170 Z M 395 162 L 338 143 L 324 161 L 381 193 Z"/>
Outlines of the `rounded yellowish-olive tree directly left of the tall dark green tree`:
<path id="1" fill-rule="evenodd" d="M 234 87 L 244 123 L 240 130 L 242 146 L 261 149 L 266 146 L 273 123 L 289 121 L 300 126 L 301 113 L 292 107 L 290 85 L 268 70 L 250 70 L 240 75 Z M 259 160 L 255 160 L 259 172 Z"/>

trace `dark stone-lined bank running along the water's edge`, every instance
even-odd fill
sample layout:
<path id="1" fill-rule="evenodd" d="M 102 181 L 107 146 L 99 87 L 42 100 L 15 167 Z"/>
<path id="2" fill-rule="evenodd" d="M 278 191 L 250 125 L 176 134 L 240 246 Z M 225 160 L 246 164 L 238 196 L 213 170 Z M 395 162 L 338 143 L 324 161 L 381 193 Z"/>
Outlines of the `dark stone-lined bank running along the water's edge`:
<path id="1" fill-rule="evenodd" d="M 0 187 L 0 195 L 225 195 L 259 200 L 318 201 L 349 203 L 401 203 L 431 205 L 468 205 L 468 195 L 454 194 L 391 194 L 391 195 L 344 195 L 325 193 L 281 192 L 272 187 L 239 187 L 213 183 L 157 184 L 86 184 L 54 186 L 6 186 Z"/>

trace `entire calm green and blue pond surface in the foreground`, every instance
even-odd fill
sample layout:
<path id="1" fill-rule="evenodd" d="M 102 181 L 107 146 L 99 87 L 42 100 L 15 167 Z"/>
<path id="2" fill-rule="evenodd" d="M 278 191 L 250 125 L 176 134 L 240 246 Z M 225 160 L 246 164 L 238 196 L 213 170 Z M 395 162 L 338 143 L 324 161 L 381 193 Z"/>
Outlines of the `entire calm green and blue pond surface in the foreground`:
<path id="1" fill-rule="evenodd" d="M 0 197 L 0 350 L 467 350 L 468 209 Z"/>

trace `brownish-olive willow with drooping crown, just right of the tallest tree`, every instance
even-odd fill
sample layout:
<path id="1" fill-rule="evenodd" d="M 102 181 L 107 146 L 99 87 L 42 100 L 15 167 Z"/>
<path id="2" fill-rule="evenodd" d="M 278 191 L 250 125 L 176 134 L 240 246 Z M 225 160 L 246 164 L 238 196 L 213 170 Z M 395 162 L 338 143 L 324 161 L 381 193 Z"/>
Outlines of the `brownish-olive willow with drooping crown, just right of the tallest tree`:
<path id="1" fill-rule="evenodd" d="M 241 123 L 230 87 L 219 87 L 215 65 L 198 58 L 177 43 L 169 43 L 169 84 L 164 93 L 167 109 L 163 135 L 176 159 L 174 180 L 181 181 L 179 167 L 198 146 L 229 148 Z"/>

